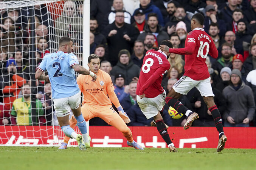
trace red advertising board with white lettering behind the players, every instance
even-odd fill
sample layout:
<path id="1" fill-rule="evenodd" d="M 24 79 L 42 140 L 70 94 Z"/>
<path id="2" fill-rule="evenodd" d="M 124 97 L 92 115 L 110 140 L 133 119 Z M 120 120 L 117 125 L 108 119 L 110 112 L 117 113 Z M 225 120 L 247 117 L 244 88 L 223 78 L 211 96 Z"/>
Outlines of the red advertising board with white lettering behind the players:
<path id="1" fill-rule="evenodd" d="M 129 127 L 133 139 L 143 147 L 168 147 L 156 127 Z M 76 131 L 78 127 L 76 126 Z M 224 127 L 225 148 L 256 149 L 256 127 Z M 216 127 L 169 127 L 168 133 L 178 148 L 216 148 Z M 111 126 L 90 126 L 93 147 L 127 147 L 126 138 Z M 64 134 L 59 126 L 0 126 L 0 146 L 59 146 Z M 69 146 L 76 146 L 74 139 Z"/>

